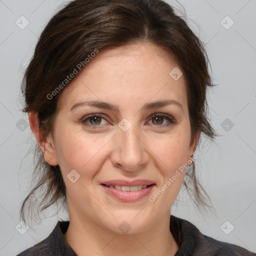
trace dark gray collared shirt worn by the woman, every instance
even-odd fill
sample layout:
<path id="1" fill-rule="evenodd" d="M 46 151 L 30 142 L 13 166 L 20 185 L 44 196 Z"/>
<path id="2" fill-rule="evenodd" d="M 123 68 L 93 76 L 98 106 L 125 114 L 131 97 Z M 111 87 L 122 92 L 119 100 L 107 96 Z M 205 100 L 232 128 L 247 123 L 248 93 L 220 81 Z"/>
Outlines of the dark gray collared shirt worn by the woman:
<path id="1" fill-rule="evenodd" d="M 69 221 L 58 221 L 48 237 L 16 256 L 77 256 L 63 236 L 68 225 Z M 206 236 L 189 221 L 173 215 L 170 215 L 170 231 L 179 246 L 175 256 L 256 256 L 240 246 Z"/>

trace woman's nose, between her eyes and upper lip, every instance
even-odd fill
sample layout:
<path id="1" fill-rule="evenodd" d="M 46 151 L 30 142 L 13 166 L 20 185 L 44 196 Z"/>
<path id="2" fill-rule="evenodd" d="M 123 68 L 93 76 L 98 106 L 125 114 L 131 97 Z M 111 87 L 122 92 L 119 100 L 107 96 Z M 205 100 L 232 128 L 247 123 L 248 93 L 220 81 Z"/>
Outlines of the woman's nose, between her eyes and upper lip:
<path id="1" fill-rule="evenodd" d="M 138 171 L 146 166 L 149 154 L 141 132 L 135 125 L 131 125 L 126 131 L 118 128 L 113 139 L 110 156 L 113 166 L 129 172 Z"/>

